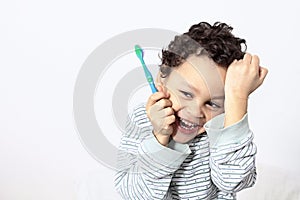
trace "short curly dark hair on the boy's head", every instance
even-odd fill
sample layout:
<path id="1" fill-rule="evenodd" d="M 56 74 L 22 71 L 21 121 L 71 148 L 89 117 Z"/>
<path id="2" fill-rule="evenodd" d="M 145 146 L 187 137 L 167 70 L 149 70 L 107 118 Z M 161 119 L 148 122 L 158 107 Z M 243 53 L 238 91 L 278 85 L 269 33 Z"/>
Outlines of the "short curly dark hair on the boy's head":
<path id="1" fill-rule="evenodd" d="M 162 50 L 162 76 L 168 76 L 171 67 L 181 65 L 192 54 L 206 54 L 222 67 L 228 67 L 234 59 L 241 59 L 247 49 L 246 40 L 235 37 L 232 30 L 226 23 L 216 22 L 210 25 L 200 22 L 191 26 L 188 32 L 175 36 L 167 49 Z"/>

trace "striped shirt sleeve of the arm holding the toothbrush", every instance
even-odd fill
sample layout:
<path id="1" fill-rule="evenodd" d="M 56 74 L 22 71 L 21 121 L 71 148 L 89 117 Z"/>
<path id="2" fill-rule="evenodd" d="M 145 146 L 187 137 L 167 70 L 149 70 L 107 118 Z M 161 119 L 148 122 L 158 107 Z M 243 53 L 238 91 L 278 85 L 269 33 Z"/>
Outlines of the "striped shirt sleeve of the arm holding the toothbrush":
<path id="1" fill-rule="evenodd" d="M 173 173 L 190 154 L 186 144 L 161 145 L 145 109 L 129 117 L 118 153 L 115 188 L 123 199 L 166 199 Z"/>

